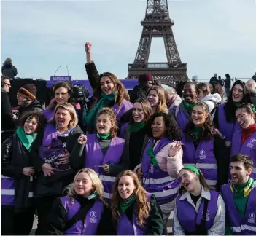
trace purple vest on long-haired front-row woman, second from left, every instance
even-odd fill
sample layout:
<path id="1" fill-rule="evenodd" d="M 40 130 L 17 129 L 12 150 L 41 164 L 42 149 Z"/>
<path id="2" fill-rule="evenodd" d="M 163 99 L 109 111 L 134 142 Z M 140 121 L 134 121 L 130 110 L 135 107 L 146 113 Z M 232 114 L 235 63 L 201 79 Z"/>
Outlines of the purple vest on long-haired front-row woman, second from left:
<path id="1" fill-rule="evenodd" d="M 151 201 L 150 194 L 147 196 L 148 202 Z M 143 227 L 139 225 L 136 208 L 133 211 L 133 221 L 130 221 L 125 213 L 122 213 L 117 224 L 117 235 L 146 235 L 147 233 L 147 221 Z"/>

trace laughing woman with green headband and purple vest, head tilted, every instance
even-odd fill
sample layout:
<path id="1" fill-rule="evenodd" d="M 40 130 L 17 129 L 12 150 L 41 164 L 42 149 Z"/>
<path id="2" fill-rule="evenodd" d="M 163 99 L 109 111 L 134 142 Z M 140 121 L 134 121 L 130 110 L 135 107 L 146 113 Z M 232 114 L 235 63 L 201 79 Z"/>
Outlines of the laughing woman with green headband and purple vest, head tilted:
<path id="1" fill-rule="evenodd" d="M 181 188 L 174 208 L 174 235 L 224 235 L 225 203 L 195 165 L 179 171 Z"/>

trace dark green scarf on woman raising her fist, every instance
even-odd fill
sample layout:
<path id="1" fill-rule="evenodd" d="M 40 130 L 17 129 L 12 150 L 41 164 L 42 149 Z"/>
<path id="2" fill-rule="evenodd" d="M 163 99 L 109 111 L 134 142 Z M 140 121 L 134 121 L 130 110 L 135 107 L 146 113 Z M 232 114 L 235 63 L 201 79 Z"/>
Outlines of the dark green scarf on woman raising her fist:
<path id="1" fill-rule="evenodd" d="M 98 115 L 98 111 L 103 109 L 106 106 L 107 101 L 115 101 L 115 93 L 111 93 L 106 95 L 101 91 L 101 100 L 93 106 L 93 109 L 90 110 L 87 117 L 85 118 L 86 124 L 91 124 L 93 127 L 96 127 L 96 117 Z"/>

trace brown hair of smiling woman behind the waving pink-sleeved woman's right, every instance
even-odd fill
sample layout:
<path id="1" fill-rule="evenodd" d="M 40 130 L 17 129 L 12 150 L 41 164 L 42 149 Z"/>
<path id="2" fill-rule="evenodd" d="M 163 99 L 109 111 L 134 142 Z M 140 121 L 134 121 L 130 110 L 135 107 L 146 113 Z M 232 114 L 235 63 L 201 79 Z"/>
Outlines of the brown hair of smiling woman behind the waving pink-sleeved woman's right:
<path id="1" fill-rule="evenodd" d="M 211 120 L 211 114 L 209 113 L 209 108 L 208 108 L 207 104 L 203 103 L 203 102 L 198 102 L 195 104 L 195 106 L 201 106 L 203 108 L 203 111 L 208 114 L 206 121 L 202 125 L 203 131 L 202 131 L 202 134 L 200 137 L 202 140 L 208 141 L 212 138 L 212 134 L 214 133 L 214 124 Z M 193 107 L 195 107 L 195 106 L 193 106 Z M 189 122 L 187 123 L 187 125 L 185 127 L 186 135 L 191 137 L 194 129 L 195 129 L 195 125 L 192 121 L 192 118 L 190 118 Z"/>

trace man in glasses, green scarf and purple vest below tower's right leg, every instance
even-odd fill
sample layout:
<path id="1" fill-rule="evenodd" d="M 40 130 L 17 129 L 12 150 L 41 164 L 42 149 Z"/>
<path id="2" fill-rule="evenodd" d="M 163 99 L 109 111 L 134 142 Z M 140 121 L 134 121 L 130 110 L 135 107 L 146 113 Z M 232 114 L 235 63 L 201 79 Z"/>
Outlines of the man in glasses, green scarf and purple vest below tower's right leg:
<path id="1" fill-rule="evenodd" d="M 187 82 L 183 88 L 183 98 L 184 100 L 179 106 L 174 106 L 169 114 L 174 115 L 177 120 L 182 132 L 184 132 L 188 120 L 191 117 L 193 106 L 196 103 L 196 98 L 198 97 L 198 92 L 196 91 L 196 86 L 194 82 Z"/>

